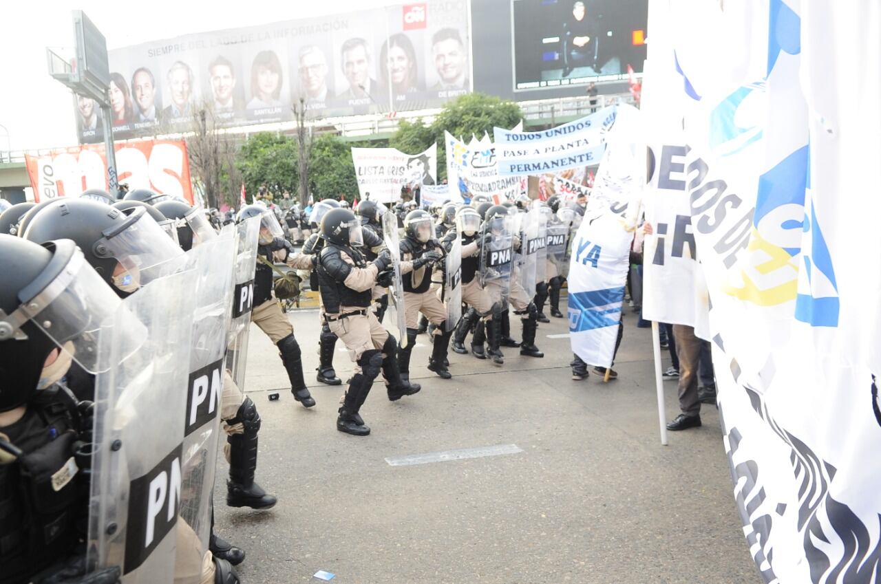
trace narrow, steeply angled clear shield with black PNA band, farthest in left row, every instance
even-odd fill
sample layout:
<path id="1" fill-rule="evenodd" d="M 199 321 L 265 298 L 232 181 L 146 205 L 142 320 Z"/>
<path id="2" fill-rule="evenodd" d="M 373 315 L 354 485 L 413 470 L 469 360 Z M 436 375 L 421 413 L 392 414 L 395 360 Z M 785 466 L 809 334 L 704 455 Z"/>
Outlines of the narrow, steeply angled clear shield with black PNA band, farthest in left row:
<path id="1" fill-rule="evenodd" d="M 260 217 L 252 217 L 235 225 L 235 256 L 232 259 L 233 307 L 230 309 L 233 320 L 229 327 L 226 369 L 242 391 L 245 388 L 245 362 L 248 359 L 251 309 L 254 308 L 254 273 L 257 266 L 260 220 Z"/>

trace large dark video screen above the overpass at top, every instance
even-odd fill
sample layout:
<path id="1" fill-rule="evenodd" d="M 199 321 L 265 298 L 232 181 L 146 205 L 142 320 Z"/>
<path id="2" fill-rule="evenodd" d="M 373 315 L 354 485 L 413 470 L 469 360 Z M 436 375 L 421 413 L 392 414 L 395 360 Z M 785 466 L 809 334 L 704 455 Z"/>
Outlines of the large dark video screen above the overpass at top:
<path id="1" fill-rule="evenodd" d="M 511 0 L 511 18 L 515 92 L 642 72 L 648 0 Z"/>

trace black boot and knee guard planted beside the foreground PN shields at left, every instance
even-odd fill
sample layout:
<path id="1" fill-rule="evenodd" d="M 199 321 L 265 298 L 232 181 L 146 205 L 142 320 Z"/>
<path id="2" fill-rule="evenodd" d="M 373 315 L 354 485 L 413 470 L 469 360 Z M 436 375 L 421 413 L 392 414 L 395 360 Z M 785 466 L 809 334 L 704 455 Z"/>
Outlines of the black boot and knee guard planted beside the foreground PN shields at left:
<path id="1" fill-rule="evenodd" d="M 254 482 L 257 469 L 257 432 L 260 431 L 260 414 L 250 397 L 239 406 L 234 418 L 227 425 L 241 424 L 243 432 L 226 437 L 229 443 L 229 480 L 226 481 L 226 505 L 269 509 L 278 499 L 267 494 Z"/>

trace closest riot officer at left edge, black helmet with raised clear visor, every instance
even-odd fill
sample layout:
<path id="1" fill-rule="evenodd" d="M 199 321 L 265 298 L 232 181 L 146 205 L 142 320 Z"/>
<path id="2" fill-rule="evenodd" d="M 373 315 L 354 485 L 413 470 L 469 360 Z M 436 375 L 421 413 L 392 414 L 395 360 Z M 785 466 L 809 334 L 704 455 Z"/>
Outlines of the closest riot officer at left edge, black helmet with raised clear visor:
<path id="1" fill-rule="evenodd" d="M 119 299 L 70 240 L 0 235 L 0 272 L 2 579 L 118 582 L 118 566 L 86 573 L 93 404 L 77 403 L 61 381 L 73 359 L 90 366 L 90 325 Z"/>

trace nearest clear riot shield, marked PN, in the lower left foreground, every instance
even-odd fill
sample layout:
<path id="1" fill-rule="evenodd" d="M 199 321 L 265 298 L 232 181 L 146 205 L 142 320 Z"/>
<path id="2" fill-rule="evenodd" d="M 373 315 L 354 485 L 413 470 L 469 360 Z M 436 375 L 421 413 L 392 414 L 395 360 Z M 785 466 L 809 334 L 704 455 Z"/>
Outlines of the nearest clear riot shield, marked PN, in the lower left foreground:
<path id="1" fill-rule="evenodd" d="M 153 280 L 100 339 L 112 366 L 95 378 L 88 560 L 120 566 L 124 584 L 171 584 L 203 561 L 179 521 L 195 290 L 193 270 Z M 141 332 L 137 351 L 130 329 Z"/>

